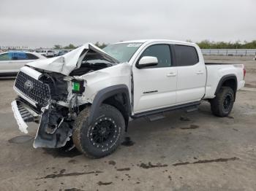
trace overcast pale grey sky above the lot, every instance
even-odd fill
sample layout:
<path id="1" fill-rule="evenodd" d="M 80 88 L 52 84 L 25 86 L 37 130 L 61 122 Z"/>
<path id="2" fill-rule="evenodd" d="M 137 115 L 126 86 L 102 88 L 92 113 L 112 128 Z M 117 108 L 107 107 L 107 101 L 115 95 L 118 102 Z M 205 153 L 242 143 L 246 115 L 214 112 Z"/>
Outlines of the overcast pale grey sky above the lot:
<path id="1" fill-rule="evenodd" d="M 0 46 L 256 39 L 255 0 L 1 0 Z"/>

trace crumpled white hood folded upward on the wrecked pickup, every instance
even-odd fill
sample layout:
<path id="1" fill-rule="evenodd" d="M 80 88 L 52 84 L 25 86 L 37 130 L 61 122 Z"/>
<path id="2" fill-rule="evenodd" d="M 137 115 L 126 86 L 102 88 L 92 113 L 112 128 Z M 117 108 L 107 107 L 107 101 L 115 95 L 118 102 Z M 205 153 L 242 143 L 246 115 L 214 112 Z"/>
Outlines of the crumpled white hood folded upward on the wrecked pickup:
<path id="1" fill-rule="evenodd" d="M 34 61 L 31 63 L 27 63 L 26 65 L 36 69 L 54 71 L 54 72 L 58 72 L 68 76 L 71 71 L 73 71 L 74 69 L 80 68 L 80 64 L 81 64 L 81 61 L 79 61 L 80 55 L 82 54 L 82 52 L 85 52 L 86 54 L 88 50 L 93 50 L 94 52 L 98 52 L 103 57 L 118 63 L 118 61 L 116 61 L 115 58 L 112 58 L 110 55 L 108 55 L 106 52 L 96 47 L 94 44 L 86 43 L 76 48 L 75 50 L 72 50 L 71 52 L 67 52 L 67 54 L 65 55 Z"/>

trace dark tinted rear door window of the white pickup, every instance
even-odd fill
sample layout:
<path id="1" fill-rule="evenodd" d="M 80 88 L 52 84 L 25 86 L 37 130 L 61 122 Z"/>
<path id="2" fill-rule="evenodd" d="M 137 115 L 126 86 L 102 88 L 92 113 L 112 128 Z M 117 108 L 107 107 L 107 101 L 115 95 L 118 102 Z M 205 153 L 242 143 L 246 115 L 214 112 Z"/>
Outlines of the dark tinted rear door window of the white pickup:
<path id="1" fill-rule="evenodd" d="M 199 62 L 195 47 L 174 45 L 176 66 L 192 66 Z"/>

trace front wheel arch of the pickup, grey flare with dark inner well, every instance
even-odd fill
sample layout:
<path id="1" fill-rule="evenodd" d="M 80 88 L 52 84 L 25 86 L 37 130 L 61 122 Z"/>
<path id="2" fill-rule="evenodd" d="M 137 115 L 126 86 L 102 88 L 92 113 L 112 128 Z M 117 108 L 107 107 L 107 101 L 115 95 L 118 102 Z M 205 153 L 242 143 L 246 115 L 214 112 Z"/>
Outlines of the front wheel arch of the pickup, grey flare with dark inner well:
<path id="1" fill-rule="evenodd" d="M 121 101 L 124 101 L 124 103 L 121 103 Z M 103 103 L 115 106 L 116 109 L 118 109 L 121 112 L 121 114 L 124 116 L 127 128 L 129 116 L 132 113 L 129 98 L 129 89 L 127 85 L 113 85 L 110 87 L 105 87 L 102 90 L 99 90 L 97 95 L 95 95 L 94 97 L 94 101 L 91 104 L 89 123 L 91 123 L 94 119 L 94 116 L 97 115 L 99 106 Z"/>

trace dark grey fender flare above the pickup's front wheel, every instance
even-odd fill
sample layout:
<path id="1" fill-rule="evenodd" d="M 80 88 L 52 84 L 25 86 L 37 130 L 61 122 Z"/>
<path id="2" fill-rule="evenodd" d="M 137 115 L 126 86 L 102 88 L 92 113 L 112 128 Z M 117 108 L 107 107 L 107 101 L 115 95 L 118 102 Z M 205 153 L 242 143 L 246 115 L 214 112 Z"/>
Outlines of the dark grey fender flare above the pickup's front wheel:
<path id="1" fill-rule="evenodd" d="M 94 119 L 94 116 L 97 115 L 99 106 L 102 104 L 103 101 L 105 101 L 106 98 L 110 98 L 113 95 L 116 95 L 118 93 L 124 93 L 125 101 L 127 103 L 127 111 L 129 113 L 129 116 L 132 113 L 131 104 L 130 104 L 130 98 L 129 98 L 129 90 L 127 85 L 113 85 L 110 87 L 105 87 L 102 90 L 99 90 L 97 95 L 94 97 L 94 101 L 91 104 L 91 111 L 89 115 L 89 124 Z"/>

